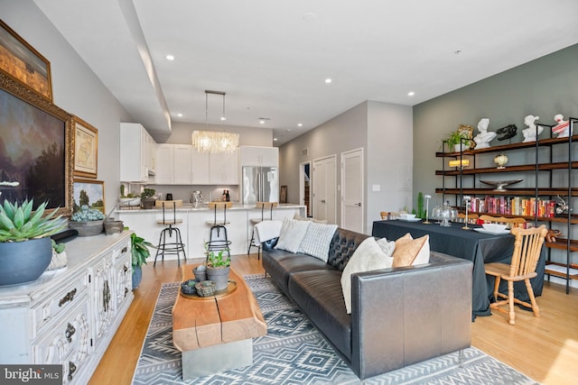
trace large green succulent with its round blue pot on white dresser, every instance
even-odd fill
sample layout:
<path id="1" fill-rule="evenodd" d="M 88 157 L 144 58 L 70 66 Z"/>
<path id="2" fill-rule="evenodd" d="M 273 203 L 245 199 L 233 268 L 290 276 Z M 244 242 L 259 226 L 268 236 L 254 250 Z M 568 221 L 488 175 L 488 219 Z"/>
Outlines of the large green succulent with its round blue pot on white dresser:
<path id="1" fill-rule="evenodd" d="M 44 202 L 33 212 L 33 199 L 0 205 L 0 286 L 37 280 L 51 263 L 51 235 L 67 226 L 66 218 L 44 215 Z"/>

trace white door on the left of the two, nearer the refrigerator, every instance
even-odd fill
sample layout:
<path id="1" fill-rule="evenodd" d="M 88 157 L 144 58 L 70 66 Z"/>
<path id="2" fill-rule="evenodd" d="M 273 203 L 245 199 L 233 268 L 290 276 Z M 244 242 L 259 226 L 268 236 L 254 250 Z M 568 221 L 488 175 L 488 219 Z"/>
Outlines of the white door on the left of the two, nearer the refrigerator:
<path id="1" fill-rule="evenodd" d="M 313 160 L 313 217 L 336 223 L 336 160 L 335 155 Z"/>

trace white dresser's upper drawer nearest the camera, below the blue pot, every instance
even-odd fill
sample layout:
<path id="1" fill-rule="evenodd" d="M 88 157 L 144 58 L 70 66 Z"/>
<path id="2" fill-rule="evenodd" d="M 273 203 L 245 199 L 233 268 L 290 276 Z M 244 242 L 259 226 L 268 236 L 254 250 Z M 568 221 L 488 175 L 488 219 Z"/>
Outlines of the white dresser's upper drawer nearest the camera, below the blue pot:
<path id="1" fill-rule="evenodd" d="M 65 314 L 71 307 L 80 302 L 89 293 L 89 273 L 79 275 L 62 289 L 56 289 L 39 304 L 31 308 L 32 311 L 32 338 L 40 335 L 44 327 L 49 327 L 51 321 Z"/>

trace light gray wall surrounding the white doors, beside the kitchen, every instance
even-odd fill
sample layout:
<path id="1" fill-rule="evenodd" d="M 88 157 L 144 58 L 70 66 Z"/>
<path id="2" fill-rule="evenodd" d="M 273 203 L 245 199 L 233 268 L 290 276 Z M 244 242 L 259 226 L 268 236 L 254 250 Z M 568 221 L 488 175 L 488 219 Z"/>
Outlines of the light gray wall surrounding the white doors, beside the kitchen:
<path id="1" fill-rule="evenodd" d="M 299 165 L 336 155 L 337 224 L 340 225 L 340 154 L 364 149 L 365 230 L 382 210 L 411 206 L 412 197 L 412 108 L 407 105 L 366 101 L 279 149 L 281 185 L 287 186 L 290 202 L 299 202 Z M 309 148 L 309 156 L 302 150 Z M 378 185 L 380 191 L 373 191 Z"/>

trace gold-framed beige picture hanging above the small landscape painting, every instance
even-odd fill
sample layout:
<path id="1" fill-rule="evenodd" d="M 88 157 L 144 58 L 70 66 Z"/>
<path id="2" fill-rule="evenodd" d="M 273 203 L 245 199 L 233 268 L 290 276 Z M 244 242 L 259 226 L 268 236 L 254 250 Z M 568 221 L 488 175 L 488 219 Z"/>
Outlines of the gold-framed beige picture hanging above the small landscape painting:
<path id="1" fill-rule="evenodd" d="M 74 176 L 97 178 L 98 130 L 78 116 L 72 117 L 74 131 Z"/>

